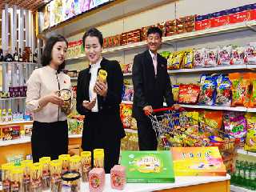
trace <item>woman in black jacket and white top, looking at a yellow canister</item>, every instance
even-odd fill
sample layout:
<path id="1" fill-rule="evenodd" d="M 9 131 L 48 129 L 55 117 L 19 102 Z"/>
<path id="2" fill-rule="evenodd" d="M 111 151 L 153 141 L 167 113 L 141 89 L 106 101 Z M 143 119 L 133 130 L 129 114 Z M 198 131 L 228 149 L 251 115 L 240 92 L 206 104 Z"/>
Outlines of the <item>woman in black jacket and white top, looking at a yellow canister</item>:
<path id="1" fill-rule="evenodd" d="M 82 150 L 104 149 L 106 173 L 118 164 L 121 138 L 125 136 L 119 114 L 123 75 L 117 61 L 102 58 L 102 33 L 92 28 L 84 34 L 83 46 L 90 66 L 78 74 L 77 110 L 86 115 Z M 98 81 L 98 71 L 107 73 L 106 83 Z"/>

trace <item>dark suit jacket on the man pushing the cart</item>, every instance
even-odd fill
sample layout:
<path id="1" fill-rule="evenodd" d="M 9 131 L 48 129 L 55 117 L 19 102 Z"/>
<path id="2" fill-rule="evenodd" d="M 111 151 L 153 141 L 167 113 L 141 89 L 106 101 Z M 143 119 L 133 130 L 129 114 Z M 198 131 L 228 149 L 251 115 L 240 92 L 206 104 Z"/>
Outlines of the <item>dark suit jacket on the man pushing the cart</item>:
<path id="1" fill-rule="evenodd" d="M 164 98 L 167 106 L 174 104 L 174 96 L 171 92 L 170 77 L 167 73 L 167 61 L 158 54 L 158 73 L 154 74 L 154 65 L 149 50 L 134 57 L 132 78 L 134 84 L 134 118 L 143 118 L 144 106 L 152 106 L 153 109 L 162 108 Z"/>

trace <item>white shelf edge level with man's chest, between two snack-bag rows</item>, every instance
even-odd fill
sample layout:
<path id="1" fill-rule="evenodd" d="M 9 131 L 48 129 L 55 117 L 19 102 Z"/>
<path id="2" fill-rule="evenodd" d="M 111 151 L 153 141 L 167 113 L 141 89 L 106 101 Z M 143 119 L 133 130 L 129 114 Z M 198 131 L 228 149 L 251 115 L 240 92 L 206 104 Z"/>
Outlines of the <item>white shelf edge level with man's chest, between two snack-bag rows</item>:
<path id="1" fill-rule="evenodd" d="M 246 65 L 239 66 L 215 66 L 215 67 L 207 67 L 207 68 L 194 68 L 194 69 L 181 69 L 181 70 L 168 70 L 169 74 L 182 74 L 182 73 L 193 73 L 193 72 L 201 72 L 201 71 L 216 71 L 216 70 L 246 70 L 256 68 L 256 65 L 250 66 L 247 68 Z"/>

